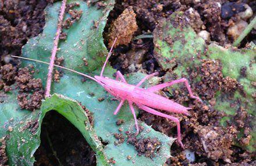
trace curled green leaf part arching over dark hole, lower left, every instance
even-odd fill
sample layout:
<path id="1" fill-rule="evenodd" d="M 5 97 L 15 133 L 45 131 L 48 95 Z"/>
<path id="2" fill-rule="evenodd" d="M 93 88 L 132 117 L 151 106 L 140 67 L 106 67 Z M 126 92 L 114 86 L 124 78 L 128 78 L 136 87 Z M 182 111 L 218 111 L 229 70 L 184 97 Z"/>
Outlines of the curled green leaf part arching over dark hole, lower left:
<path id="1" fill-rule="evenodd" d="M 8 135 L 6 152 L 9 165 L 33 165 L 33 154 L 40 145 L 42 119 L 50 110 L 55 110 L 69 120 L 80 132 L 96 153 L 97 161 L 108 165 L 103 152 L 103 145 L 90 125 L 86 112 L 74 101 L 61 95 L 52 95 L 42 102 L 41 110 L 30 112 L 21 110 L 15 98 L 16 93 L 3 98 L 1 108 L 0 135 Z M 10 130 L 12 128 L 12 130 Z"/>

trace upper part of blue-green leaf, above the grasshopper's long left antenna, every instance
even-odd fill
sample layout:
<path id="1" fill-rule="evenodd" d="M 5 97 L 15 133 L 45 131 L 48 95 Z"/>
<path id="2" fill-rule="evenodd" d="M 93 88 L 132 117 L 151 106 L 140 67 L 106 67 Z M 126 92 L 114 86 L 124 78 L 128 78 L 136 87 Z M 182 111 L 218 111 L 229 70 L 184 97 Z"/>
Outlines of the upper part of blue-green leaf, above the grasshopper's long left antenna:
<path id="1" fill-rule="evenodd" d="M 81 10 L 82 14 L 80 19 L 76 20 L 70 28 L 63 28 L 63 32 L 67 34 L 67 37 L 59 42 L 57 57 L 65 57 L 65 62 L 67 60 L 70 61 L 65 63 L 67 68 L 79 72 L 92 72 L 102 66 L 105 55 L 108 54 L 103 42 L 102 32 L 104 31 L 108 13 L 113 8 L 114 1 L 104 1 L 105 6 L 101 9 L 97 9 L 96 5 L 88 6 L 85 1 L 68 2 L 79 3 L 79 6 L 74 7 L 74 9 Z M 37 60 L 49 61 L 60 7 L 61 2 L 47 6 L 45 9 L 46 23 L 44 31 L 37 37 L 30 39 L 23 46 L 23 57 L 34 57 Z M 66 13 L 63 22 L 69 17 L 70 15 Z M 96 23 L 97 26 L 95 26 Z M 37 64 L 37 67 L 40 68 L 41 64 Z M 40 69 L 38 75 L 45 75 L 45 73 L 48 73 L 48 68 Z M 43 82 L 45 82 L 45 79 Z"/>

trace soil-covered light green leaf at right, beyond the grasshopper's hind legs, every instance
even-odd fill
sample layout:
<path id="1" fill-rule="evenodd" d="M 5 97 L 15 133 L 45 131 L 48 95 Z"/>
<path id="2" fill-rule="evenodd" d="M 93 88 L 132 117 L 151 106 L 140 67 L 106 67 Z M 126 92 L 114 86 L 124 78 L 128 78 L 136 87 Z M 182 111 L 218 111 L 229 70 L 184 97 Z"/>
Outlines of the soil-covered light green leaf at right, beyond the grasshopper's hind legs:
<path id="1" fill-rule="evenodd" d="M 236 79 L 243 86 L 246 97 L 239 90 L 234 92 L 233 98 L 230 98 L 223 91 L 216 90 L 214 108 L 233 116 L 240 107 L 243 107 L 250 115 L 255 115 L 256 103 L 255 98 L 253 98 L 253 94 L 255 95 L 256 92 L 255 86 L 253 86 L 253 82 L 256 82 L 255 47 L 235 50 L 232 48 L 225 49 L 216 44 L 207 46 L 204 40 L 198 37 L 193 28 L 190 27 L 183 12 L 173 13 L 155 28 L 154 45 L 154 56 L 156 56 L 159 64 L 165 70 L 175 67 L 172 74 L 176 75 L 177 78 L 189 78 L 188 69 L 197 72 L 198 68 L 196 67 L 201 66 L 202 60 L 219 60 L 222 64 L 223 78 L 229 76 Z M 245 76 L 240 73 L 242 67 L 247 68 Z M 168 77 L 169 73 L 166 74 L 166 78 Z M 197 83 L 201 79 L 198 75 L 195 80 L 190 80 L 190 82 Z M 236 103 L 235 106 L 230 106 L 234 103 Z M 232 118 L 223 117 L 221 123 L 225 120 L 232 120 Z M 253 119 L 251 126 L 253 127 L 251 132 L 253 138 L 250 145 L 245 148 L 254 152 L 256 150 L 253 147 L 256 139 L 256 124 Z"/>

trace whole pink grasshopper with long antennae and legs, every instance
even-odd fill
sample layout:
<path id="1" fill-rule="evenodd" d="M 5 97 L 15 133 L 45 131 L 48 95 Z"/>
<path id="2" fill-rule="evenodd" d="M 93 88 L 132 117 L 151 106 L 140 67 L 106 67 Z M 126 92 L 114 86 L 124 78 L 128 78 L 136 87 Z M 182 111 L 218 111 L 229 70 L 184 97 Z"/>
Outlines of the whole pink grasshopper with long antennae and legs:
<path id="1" fill-rule="evenodd" d="M 115 45 L 115 42 L 113 43 L 113 46 Z M 120 108 L 122 107 L 122 105 L 124 104 L 124 102 L 127 100 L 128 104 L 130 106 L 131 109 L 131 113 L 133 114 L 134 120 L 135 120 L 135 126 L 136 126 L 136 134 L 138 134 L 139 132 L 139 128 L 138 128 L 138 123 L 137 123 L 137 118 L 136 118 L 136 113 L 134 111 L 133 108 L 133 104 L 136 104 L 138 106 L 138 108 L 145 110 L 148 113 L 152 113 L 154 115 L 158 115 L 158 116 L 162 116 L 162 117 L 166 117 L 172 121 L 175 121 L 175 123 L 177 124 L 177 141 L 180 143 L 180 145 L 182 147 L 183 143 L 181 141 L 181 134 L 180 134 L 180 121 L 179 119 L 177 119 L 176 117 L 173 116 L 169 116 L 166 115 L 165 113 L 161 113 L 158 112 L 155 109 L 160 109 L 160 110 L 165 110 L 168 112 L 175 112 L 175 113 L 182 113 L 184 115 L 190 115 L 190 113 L 188 112 L 187 107 L 184 107 L 180 104 L 177 104 L 176 102 L 164 98 L 161 95 L 155 94 L 158 90 L 161 90 L 162 88 L 168 87 L 168 86 L 172 86 L 173 84 L 177 84 L 177 83 L 185 83 L 187 90 L 189 91 L 189 95 L 191 98 L 194 99 L 198 99 L 199 101 L 201 101 L 201 99 L 199 97 L 196 97 L 195 95 L 193 95 L 191 88 L 189 86 L 189 82 L 187 81 L 187 79 L 182 78 L 179 80 L 174 80 L 172 82 L 167 82 L 167 83 L 162 83 L 162 84 L 158 84 L 156 86 L 152 86 L 150 88 L 144 89 L 141 88 L 141 84 L 143 82 L 145 82 L 145 80 L 151 78 L 152 76 L 158 75 L 158 72 L 152 73 L 150 75 L 145 76 L 145 78 L 143 78 L 138 84 L 133 85 L 133 84 L 129 84 L 126 82 L 125 77 L 122 75 L 122 73 L 120 71 L 116 72 L 116 80 L 107 78 L 103 75 L 106 63 L 109 59 L 109 57 L 112 54 L 112 49 L 113 46 L 111 47 L 111 50 L 109 51 L 108 56 L 106 57 L 106 61 L 102 67 L 101 73 L 99 76 L 88 76 L 84 73 L 81 72 L 77 72 L 74 71 L 72 69 L 69 68 L 65 68 L 65 67 L 61 67 L 59 65 L 55 65 L 55 67 L 59 67 L 59 68 L 63 68 L 63 69 L 67 69 L 69 71 L 78 73 L 79 75 L 83 75 L 86 76 L 89 79 L 94 80 L 95 82 L 99 83 L 102 87 L 105 88 L 106 91 L 108 91 L 110 94 L 112 94 L 113 96 L 115 96 L 116 98 L 120 99 L 120 103 L 118 105 L 118 107 L 116 108 L 115 112 L 113 113 L 114 115 L 116 115 Z M 12 56 L 12 57 L 16 57 L 16 56 Z M 23 58 L 23 57 L 16 57 L 16 58 Z M 33 60 L 30 58 L 23 58 L 26 60 L 31 60 L 31 61 L 37 61 L 37 62 L 42 62 L 44 64 L 49 64 L 48 62 L 44 62 L 44 61 L 39 61 L 39 60 Z M 120 80 L 119 80 L 120 79 Z"/>

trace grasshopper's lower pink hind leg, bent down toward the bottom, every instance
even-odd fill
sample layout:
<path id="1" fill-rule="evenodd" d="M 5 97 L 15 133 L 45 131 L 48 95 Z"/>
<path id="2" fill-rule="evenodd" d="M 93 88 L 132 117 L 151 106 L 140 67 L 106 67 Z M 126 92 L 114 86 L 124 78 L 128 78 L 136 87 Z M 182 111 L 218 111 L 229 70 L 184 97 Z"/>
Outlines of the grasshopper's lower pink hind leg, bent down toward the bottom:
<path id="1" fill-rule="evenodd" d="M 180 121 L 179 121 L 179 119 L 177 119 L 176 117 L 169 116 L 169 115 L 166 115 L 164 113 L 158 112 L 157 110 L 154 110 L 154 109 L 152 109 L 148 106 L 141 105 L 141 104 L 137 104 L 137 105 L 138 105 L 138 108 L 143 109 L 148 113 L 152 113 L 154 115 L 162 116 L 162 117 L 165 117 L 165 118 L 168 118 L 168 119 L 174 121 L 177 124 L 177 135 L 178 135 L 177 141 L 180 143 L 180 146 L 182 146 L 182 148 L 184 149 L 184 145 L 182 143 L 182 138 L 181 138 L 181 134 L 180 134 Z"/>

